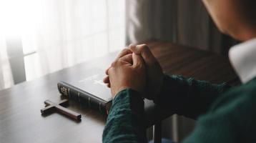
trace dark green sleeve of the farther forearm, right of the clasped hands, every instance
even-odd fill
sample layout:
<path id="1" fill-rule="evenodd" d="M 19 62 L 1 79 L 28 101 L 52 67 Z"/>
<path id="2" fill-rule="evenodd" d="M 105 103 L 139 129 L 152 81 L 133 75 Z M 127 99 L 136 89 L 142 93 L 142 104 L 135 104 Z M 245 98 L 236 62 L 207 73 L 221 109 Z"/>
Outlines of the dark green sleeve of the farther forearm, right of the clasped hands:
<path id="1" fill-rule="evenodd" d="M 186 79 L 182 76 L 165 75 L 162 93 L 154 100 L 164 112 L 196 119 L 205 114 L 212 102 L 230 88 L 227 84 Z"/>

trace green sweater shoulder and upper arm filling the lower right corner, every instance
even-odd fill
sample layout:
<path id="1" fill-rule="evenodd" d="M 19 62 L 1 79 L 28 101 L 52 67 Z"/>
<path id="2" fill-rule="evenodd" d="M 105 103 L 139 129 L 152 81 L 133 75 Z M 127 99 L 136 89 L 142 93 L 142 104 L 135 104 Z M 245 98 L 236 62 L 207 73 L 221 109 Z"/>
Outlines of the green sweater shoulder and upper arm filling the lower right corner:
<path id="1" fill-rule="evenodd" d="M 256 79 L 232 87 L 197 119 L 184 142 L 252 142 L 256 132 Z"/>

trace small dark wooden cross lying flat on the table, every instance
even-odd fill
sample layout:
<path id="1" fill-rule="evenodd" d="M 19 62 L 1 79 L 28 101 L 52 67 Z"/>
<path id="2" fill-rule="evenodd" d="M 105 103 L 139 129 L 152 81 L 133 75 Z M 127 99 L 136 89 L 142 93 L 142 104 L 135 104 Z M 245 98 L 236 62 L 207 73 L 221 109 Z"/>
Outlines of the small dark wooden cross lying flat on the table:
<path id="1" fill-rule="evenodd" d="M 58 112 L 61 112 L 68 117 L 71 117 L 72 119 L 76 119 L 77 121 L 81 120 L 81 114 L 78 114 L 77 112 L 73 112 L 72 110 L 63 107 L 69 104 L 69 101 L 67 99 L 61 100 L 61 102 L 59 103 L 54 103 L 46 100 L 44 101 L 44 104 L 45 108 L 41 109 L 41 114 L 47 114 L 49 112 L 52 112 L 53 110 L 57 110 Z"/>

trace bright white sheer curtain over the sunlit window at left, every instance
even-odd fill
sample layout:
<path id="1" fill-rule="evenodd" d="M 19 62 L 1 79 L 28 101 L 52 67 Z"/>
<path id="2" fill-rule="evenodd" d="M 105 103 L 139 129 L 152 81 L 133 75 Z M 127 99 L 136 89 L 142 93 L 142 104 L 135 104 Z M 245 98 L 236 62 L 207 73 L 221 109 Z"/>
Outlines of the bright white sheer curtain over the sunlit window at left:
<path id="1" fill-rule="evenodd" d="M 19 36 L 26 80 L 122 49 L 124 1 L 0 0 L 0 47 L 6 36 Z"/>

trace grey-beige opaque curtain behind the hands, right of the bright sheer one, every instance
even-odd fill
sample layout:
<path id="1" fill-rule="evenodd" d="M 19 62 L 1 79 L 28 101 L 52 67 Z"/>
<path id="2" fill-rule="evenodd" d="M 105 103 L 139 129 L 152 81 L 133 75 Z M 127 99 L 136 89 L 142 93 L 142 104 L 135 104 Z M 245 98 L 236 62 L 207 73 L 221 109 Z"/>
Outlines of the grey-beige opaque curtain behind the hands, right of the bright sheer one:
<path id="1" fill-rule="evenodd" d="M 127 1 L 127 44 L 149 39 L 171 41 L 227 54 L 235 41 L 218 31 L 202 1 Z"/>

